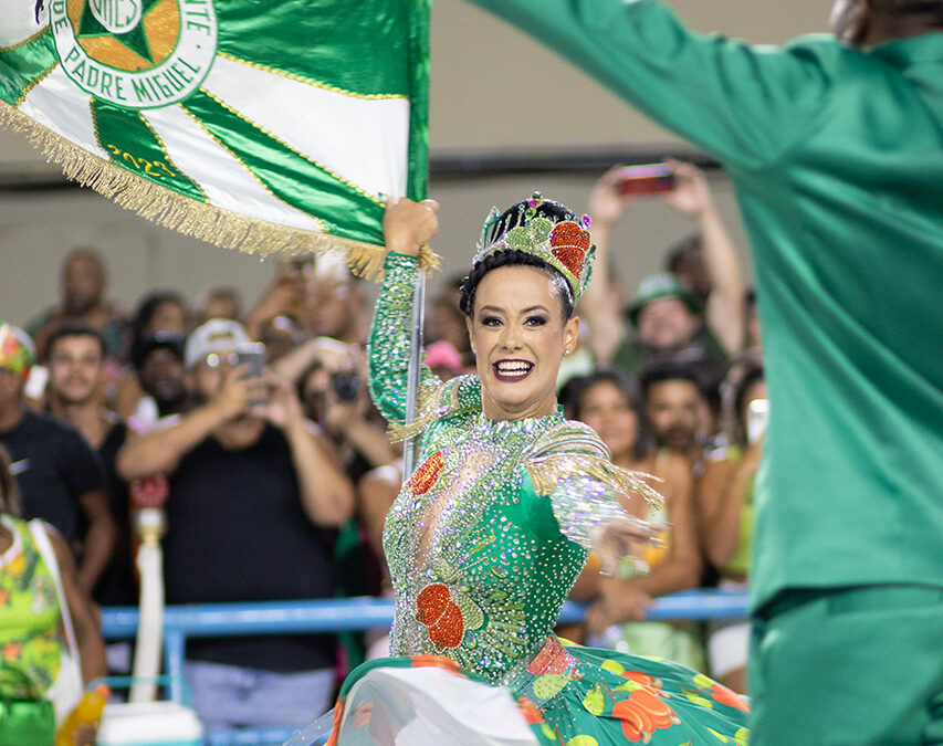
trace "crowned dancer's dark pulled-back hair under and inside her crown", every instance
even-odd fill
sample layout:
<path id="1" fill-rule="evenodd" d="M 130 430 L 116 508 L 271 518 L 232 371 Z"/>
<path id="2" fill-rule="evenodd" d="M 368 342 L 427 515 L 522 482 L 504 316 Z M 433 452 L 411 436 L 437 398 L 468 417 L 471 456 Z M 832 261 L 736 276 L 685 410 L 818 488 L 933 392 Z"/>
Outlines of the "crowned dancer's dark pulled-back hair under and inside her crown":
<path id="1" fill-rule="evenodd" d="M 497 218 L 497 220 L 494 221 L 494 223 L 489 228 L 488 237 L 484 238 L 485 242 L 488 244 L 492 244 L 512 228 L 522 225 L 524 223 L 524 212 L 528 208 L 528 200 L 517 202 L 516 204 L 512 204 L 510 208 L 507 208 L 504 212 L 501 213 L 501 217 Z M 552 199 L 543 200 L 535 208 L 534 214 L 532 217 L 537 216 L 549 218 L 555 223 L 562 222 L 564 220 L 576 220 L 576 216 L 574 214 L 573 210 L 570 210 L 565 204 L 556 202 Z M 459 306 L 461 307 L 465 316 L 471 316 L 473 314 L 474 294 L 478 290 L 479 283 L 481 283 L 484 275 L 486 275 L 492 270 L 496 270 L 500 266 L 533 266 L 535 269 L 543 270 L 547 277 L 551 280 L 554 293 L 559 300 L 560 308 L 563 309 L 564 321 L 567 321 L 570 316 L 573 316 L 573 288 L 569 286 L 569 283 L 566 281 L 566 277 L 564 277 L 558 270 L 551 266 L 546 262 L 537 259 L 533 254 L 516 250 L 496 251 L 493 254 L 490 254 L 481 263 L 476 264 L 472 269 L 471 273 L 469 273 L 469 276 L 462 281 L 460 287 L 462 296 L 459 301 Z"/>

